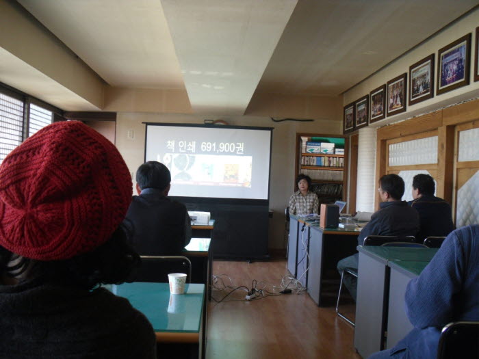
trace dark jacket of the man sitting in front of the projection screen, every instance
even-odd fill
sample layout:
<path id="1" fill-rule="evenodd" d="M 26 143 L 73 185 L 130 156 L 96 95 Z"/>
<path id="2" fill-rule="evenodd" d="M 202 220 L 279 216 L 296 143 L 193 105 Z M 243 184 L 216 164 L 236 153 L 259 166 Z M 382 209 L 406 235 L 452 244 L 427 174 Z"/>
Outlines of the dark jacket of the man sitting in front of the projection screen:
<path id="1" fill-rule="evenodd" d="M 184 204 L 170 200 L 159 189 L 143 189 L 133 196 L 127 212 L 133 227 L 133 248 L 142 255 L 181 255 L 190 243 L 191 223 Z"/>

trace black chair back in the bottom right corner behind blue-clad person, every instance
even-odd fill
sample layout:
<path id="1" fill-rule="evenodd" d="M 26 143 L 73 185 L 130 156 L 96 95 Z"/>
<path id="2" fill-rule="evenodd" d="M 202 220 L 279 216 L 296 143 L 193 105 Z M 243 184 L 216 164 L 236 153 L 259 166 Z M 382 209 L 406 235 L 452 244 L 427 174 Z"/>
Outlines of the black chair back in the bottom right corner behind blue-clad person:
<path id="1" fill-rule="evenodd" d="M 456 321 L 445 325 L 439 338 L 437 359 L 479 358 L 479 321 Z"/>

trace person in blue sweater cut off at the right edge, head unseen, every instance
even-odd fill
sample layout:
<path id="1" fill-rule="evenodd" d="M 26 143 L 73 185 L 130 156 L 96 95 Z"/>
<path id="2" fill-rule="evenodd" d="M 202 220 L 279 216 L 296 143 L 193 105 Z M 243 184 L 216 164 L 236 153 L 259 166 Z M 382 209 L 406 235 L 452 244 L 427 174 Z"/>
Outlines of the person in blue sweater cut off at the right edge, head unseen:
<path id="1" fill-rule="evenodd" d="M 406 289 L 414 329 L 396 347 L 370 359 L 435 359 L 441 329 L 452 321 L 479 321 L 479 225 L 454 230 Z M 477 343 L 476 343 L 477 345 Z"/>

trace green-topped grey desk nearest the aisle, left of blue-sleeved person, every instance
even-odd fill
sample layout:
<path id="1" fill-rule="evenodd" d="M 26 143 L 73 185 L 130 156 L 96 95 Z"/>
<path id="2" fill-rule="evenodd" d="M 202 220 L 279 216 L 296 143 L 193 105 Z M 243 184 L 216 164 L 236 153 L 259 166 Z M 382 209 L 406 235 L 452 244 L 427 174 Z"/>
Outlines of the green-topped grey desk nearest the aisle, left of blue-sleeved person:
<path id="1" fill-rule="evenodd" d="M 390 324 L 392 338 L 388 339 L 388 343 L 396 340 L 393 338 L 397 338 L 404 332 L 401 328 L 396 328 L 396 325 L 409 322 L 403 309 L 405 286 L 409 280 L 400 276 L 399 281 L 394 280 L 391 283 L 391 263 L 420 262 L 424 263 L 425 267 L 436 254 L 437 248 L 360 245 L 358 251 L 359 269 L 354 347 L 363 358 L 367 358 L 376 351 L 385 349 L 384 338 L 386 330 L 389 328 L 389 308 L 391 308 L 391 315 L 394 319 Z M 392 302 L 389 302 L 390 300 Z M 409 332 L 407 328 L 409 327 L 406 327 L 406 333 Z M 387 330 L 387 333 L 389 338 L 389 330 Z"/>

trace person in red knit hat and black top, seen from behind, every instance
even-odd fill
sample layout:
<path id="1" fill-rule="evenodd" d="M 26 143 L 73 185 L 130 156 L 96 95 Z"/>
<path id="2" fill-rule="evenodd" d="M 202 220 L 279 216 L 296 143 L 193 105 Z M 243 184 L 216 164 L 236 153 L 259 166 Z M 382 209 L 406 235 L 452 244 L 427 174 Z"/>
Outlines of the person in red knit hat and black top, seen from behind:
<path id="1" fill-rule="evenodd" d="M 140 257 L 122 226 L 131 176 L 77 121 L 41 129 L 0 166 L 0 358 L 155 358 L 151 323 L 99 284 Z"/>

